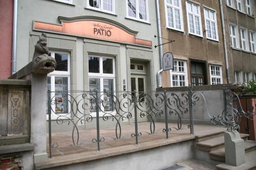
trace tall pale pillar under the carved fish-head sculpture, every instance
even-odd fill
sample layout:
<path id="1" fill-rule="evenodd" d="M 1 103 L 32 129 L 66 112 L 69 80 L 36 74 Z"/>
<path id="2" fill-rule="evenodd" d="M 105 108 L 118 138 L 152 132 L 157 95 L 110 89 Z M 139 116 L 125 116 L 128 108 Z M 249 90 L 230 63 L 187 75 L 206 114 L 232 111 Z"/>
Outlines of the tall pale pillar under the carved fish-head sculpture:
<path id="1" fill-rule="evenodd" d="M 31 78 L 31 143 L 35 144 L 34 162 L 48 159 L 46 152 L 47 74 L 32 74 Z"/>

